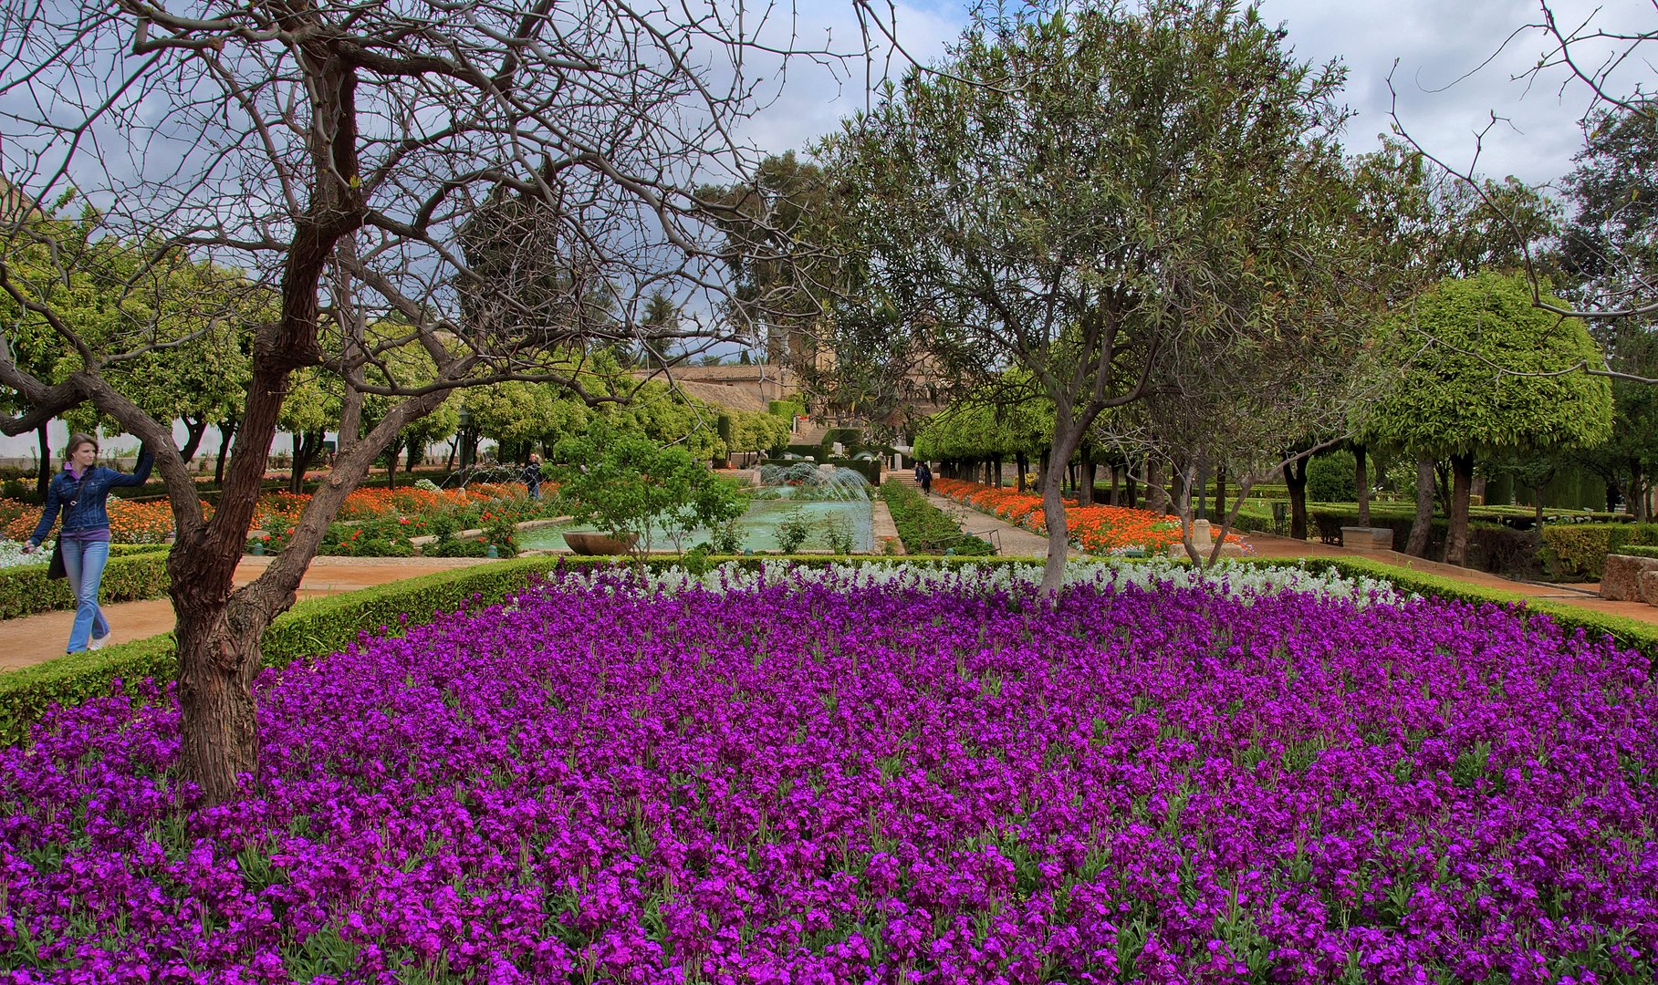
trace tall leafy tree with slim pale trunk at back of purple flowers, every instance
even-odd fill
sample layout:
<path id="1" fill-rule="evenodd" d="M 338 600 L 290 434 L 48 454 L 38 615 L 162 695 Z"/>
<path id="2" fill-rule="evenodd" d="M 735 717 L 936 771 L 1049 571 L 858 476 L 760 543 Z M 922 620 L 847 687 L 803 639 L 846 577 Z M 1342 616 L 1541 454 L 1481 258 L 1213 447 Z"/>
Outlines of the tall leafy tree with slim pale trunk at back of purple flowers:
<path id="1" fill-rule="evenodd" d="M 1016 365 L 1053 403 L 1045 589 L 1094 418 L 1149 393 L 1174 340 L 1270 335 L 1316 265 L 1330 202 L 1307 192 L 1340 167 L 1340 83 L 1253 8 L 1046 3 L 975 20 L 822 148 L 867 257 L 852 303 L 890 310 L 945 380 Z"/>

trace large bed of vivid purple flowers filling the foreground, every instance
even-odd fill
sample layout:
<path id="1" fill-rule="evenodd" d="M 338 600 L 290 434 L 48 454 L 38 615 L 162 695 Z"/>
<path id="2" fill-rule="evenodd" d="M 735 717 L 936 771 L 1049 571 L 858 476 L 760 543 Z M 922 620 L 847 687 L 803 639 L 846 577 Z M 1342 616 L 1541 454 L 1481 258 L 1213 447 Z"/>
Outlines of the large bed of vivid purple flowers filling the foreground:
<path id="1" fill-rule="evenodd" d="M 1297 592 L 569 577 L 5 750 L 10 982 L 1650 982 L 1645 662 Z"/>

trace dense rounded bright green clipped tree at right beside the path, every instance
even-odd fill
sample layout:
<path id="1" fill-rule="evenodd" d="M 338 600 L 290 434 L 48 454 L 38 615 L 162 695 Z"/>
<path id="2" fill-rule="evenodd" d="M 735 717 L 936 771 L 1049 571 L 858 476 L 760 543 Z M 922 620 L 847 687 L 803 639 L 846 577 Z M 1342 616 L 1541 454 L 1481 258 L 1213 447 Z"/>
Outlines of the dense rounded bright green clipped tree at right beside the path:
<path id="1" fill-rule="evenodd" d="M 1602 365 L 1600 350 L 1577 318 L 1534 307 L 1519 275 L 1439 282 L 1389 325 L 1391 345 L 1403 350 L 1423 347 L 1424 337 L 1428 347 L 1371 406 L 1361 433 L 1418 458 L 1451 458 L 1446 562 L 1464 564 L 1474 456 L 1605 441 L 1612 388 L 1603 378 L 1563 371 Z M 1419 524 L 1426 519 L 1418 516 Z"/>

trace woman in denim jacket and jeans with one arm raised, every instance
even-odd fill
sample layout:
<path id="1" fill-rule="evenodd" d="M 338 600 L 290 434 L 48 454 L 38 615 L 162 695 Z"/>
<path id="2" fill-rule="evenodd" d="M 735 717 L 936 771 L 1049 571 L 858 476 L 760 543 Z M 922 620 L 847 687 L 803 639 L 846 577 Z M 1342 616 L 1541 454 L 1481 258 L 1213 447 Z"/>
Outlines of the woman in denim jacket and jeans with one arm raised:
<path id="1" fill-rule="evenodd" d="M 148 448 L 138 453 L 138 471 L 131 476 L 106 469 L 98 461 L 98 443 L 90 434 L 70 434 L 68 461 L 63 471 L 46 486 L 46 509 L 30 536 L 25 552 L 40 547 L 51 531 L 51 521 L 63 507 L 63 570 L 70 575 L 70 592 L 75 595 L 75 627 L 70 630 L 70 653 L 98 650 L 109 635 L 109 624 L 98 609 L 98 582 L 109 562 L 109 512 L 104 502 L 114 486 L 143 486 L 156 458 Z"/>

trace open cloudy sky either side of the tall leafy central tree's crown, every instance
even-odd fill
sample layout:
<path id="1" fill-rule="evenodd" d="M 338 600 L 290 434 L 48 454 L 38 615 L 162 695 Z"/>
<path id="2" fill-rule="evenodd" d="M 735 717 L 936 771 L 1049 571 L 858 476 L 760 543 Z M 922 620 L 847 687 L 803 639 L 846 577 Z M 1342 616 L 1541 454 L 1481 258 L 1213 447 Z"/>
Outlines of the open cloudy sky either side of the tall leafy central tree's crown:
<path id="1" fill-rule="evenodd" d="M 802 7 L 811 8 L 799 22 L 802 38 L 826 32 L 841 43 L 859 38 L 851 2 L 817 0 Z M 1597 10 L 1582 0 L 1552 7 L 1560 23 L 1573 27 Z M 1607 0 L 1598 10 L 1595 23 L 1607 28 L 1658 28 L 1651 0 Z M 1346 103 L 1356 111 L 1348 144 L 1356 151 L 1374 148 L 1376 134 L 1389 128 L 1388 75 L 1393 73 L 1399 119 L 1446 164 L 1467 167 L 1477 149 L 1482 174 L 1515 174 L 1530 184 L 1557 179 L 1572 167 L 1572 154 L 1582 143 L 1577 119 L 1587 106 L 1587 90 L 1568 85 L 1562 91 L 1560 71 L 1544 75 L 1542 81 L 1514 81 L 1547 48 L 1547 38 L 1535 30 L 1510 40 L 1525 25 L 1540 23 L 1537 0 L 1262 0 L 1262 13 L 1268 23 L 1288 28 L 1288 41 L 1302 58 L 1338 58 L 1348 66 Z M 905 50 L 928 61 L 967 23 L 967 3 L 900 3 L 897 23 Z M 746 134 L 766 151 L 804 148 L 862 108 L 864 99 L 862 73 L 836 81 L 826 71 L 796 66 Z M 1474 134 L 1491 123 L 1492 113 L 1505 121 L 1491 128 L 1481 146 Z"/>

